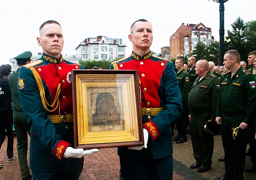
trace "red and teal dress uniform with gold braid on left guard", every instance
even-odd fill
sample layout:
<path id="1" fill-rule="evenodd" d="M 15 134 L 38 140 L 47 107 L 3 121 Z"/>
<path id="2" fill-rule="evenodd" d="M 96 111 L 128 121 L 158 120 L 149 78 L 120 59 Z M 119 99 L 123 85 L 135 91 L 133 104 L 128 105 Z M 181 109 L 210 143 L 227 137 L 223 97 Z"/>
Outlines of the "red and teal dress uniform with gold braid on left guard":
<path id="1" fill-rule="evenodd" d="M 20 69 L 18 94 L 30 131 L 30 169 L 46 172 L 49 179 L 78 179 L 84 157 L 63 158 L 73 146 L 72 84 L 67 73 L 82 66 L 42 54 L 42 57 Z M 63 176 L 51 176 L 61 172 Z M 60 173 L 60 175 L 61 175 Z M 34 176 L 35 179 L 35 176 Z"/>

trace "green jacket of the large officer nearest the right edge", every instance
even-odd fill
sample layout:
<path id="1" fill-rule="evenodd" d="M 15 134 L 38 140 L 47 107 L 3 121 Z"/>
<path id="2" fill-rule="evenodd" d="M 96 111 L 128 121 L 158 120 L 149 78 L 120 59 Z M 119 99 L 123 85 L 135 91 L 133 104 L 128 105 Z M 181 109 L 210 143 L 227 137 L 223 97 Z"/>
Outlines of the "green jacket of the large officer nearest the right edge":
<path id="1" fill-rule="evenodd" d="M 255 78 L 242 67 L 231 76 L 228 72 L 221 77 L 216 116 L 245 114 L 241 122 L 254 123 L 255 119 Z"/>

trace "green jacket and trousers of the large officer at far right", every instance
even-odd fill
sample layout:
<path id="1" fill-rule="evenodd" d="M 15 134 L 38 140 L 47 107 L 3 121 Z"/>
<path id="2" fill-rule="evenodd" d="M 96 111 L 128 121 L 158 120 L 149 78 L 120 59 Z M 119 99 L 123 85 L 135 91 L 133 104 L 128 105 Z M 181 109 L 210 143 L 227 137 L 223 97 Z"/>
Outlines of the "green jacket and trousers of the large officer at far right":
<path id="1" fill-rule="evenodd" d="M 246 129 L 255 125 L 255 79 L 250 73 L 238 69 L 221 77 L 216 116 L 221 117 L 221 137 L 225 153 L 225 178 L 243 179 L 247 144 L 235 141 L 231 129 L 244 122 Z M 246 131 L 246 130 L 245 130 Z"/>

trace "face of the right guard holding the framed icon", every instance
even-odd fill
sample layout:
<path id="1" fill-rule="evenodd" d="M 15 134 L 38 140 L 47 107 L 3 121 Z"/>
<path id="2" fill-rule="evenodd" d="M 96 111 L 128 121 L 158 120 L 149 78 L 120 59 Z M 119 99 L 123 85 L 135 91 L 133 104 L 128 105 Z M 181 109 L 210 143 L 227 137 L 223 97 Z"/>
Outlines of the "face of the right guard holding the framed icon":
<path id="1" fill-rule="evenodd" d="M 129 41 L 132 42 L 133 50 L 147 51 L 150 49 L 153 41 L 152 25 L 149 22 L 138 21 L 131 29 Z"/>

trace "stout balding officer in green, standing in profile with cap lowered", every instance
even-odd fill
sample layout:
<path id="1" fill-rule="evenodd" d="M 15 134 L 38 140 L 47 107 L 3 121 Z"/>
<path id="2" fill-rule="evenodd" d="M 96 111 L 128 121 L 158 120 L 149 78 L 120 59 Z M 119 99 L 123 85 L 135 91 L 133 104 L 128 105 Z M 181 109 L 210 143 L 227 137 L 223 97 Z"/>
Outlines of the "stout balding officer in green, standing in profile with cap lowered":
<path id="1" fill-rule="evenodd" d="M 195 70 L 198 78 L 189 93 L 188 105 L 191 116 L 191 140 L 196 163 L 192 164 L 190 168 L 198 168 L 197 172 L 202 173 L 210 170 L 212 165 L 214 138 L 205 132 L 203 126 L 206 121 L 214 122 L 215 120 L 220 80 L 209 72 L 207 60 L 199 60 Z"/>

